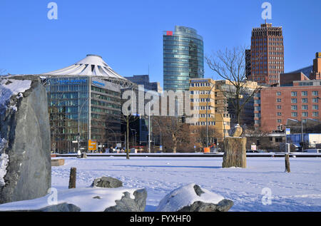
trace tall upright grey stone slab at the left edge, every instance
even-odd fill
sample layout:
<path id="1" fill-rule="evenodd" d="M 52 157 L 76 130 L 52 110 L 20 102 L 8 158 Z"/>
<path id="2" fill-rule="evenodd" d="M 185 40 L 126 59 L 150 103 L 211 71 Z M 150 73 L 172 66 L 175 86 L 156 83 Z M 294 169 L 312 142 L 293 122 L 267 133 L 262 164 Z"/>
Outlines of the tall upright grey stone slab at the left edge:
<path id="1" fill-rule="evenodd" d="M 38 77 L 22 98 L 12 96 L 16 111 L 2 108 L 0 134 L 7 140 L 3 153 L 9 155 L 0 203 L 30 200 L 47 194 L 51 187 L 50 125 L 46 89 Z"/>

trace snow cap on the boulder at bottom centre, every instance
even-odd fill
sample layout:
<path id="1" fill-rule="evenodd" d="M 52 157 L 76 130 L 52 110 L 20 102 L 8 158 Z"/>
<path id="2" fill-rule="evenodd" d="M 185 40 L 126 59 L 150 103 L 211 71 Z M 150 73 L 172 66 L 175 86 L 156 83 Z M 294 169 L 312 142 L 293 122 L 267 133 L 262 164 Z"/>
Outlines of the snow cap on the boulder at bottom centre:
<path id="1" fill-rule="evenodd" d="M 197 194 L 194 183 L 177 188 L 161 200 L 156 212 L 176 212 L 197 201 L 218 204 L 218 202 L 224 200 L 223 196 L 204 188 L 201 191 L 203 192 Z"/>

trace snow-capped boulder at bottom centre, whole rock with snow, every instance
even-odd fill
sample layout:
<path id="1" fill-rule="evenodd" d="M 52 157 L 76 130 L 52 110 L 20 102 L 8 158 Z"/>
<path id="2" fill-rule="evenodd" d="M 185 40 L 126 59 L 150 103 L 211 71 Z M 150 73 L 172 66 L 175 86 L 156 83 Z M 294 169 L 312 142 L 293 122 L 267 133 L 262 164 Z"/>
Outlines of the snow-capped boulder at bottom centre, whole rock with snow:
<path id="1" fill-rule="evenodd" d="M 234 204 L 223 196 L 195 184 L 184 185 L 166 195 L 156 212 L 227 212 Z"/>

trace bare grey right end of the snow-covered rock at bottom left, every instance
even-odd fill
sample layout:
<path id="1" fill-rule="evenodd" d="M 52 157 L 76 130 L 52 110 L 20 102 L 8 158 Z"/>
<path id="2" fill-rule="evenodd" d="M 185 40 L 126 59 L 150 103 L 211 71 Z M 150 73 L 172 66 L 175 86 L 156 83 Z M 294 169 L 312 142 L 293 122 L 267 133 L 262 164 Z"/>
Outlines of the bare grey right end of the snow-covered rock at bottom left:
<path id="1" fill-rule="evenodd" d="M 146 207 L 147 191 L 140 189 L 133 192 L 135 199 L 128 192 L 123 193 L 121 200 L 116 200 L 116 205 L 106 208 L 105 212 L 143 212 Z"/>

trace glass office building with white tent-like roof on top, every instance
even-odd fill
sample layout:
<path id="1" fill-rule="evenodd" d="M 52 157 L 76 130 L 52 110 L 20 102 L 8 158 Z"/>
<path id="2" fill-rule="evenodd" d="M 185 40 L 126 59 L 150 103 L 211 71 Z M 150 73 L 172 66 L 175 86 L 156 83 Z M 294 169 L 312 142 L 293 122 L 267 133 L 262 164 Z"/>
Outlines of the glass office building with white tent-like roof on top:
<path id="1" fill-rule="evenodd" d="M 52 148 L 58 153 L 121 143 L 121 88 L 132 83 L 113 71 L 101 56 L 87 55 L 72 66 L 44 73 Z"/>

